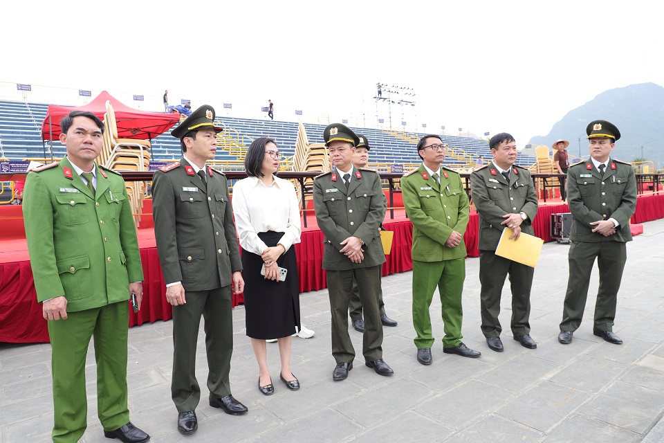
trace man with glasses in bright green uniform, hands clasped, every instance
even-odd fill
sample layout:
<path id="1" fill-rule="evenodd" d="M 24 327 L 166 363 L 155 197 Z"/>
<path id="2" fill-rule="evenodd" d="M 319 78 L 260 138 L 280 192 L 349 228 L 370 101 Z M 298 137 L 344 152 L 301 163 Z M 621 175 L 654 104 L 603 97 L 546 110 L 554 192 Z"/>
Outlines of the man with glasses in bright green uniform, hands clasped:
<path id="1" fill-rule="evenodd" d="M 439 136 L 423 136 L 417 152 L 423 163 L 401 179 L 403 206 L 413 224 L 413 326 L 417 361 L 432 363 L 429 308 L 436 286 L 442 303 L 443 352 L 477 358 L 481 354 L 462 341 L 461 293 L 465 280 L 468 195 L 457 172 L 442 168 L 445 144 Z"/>

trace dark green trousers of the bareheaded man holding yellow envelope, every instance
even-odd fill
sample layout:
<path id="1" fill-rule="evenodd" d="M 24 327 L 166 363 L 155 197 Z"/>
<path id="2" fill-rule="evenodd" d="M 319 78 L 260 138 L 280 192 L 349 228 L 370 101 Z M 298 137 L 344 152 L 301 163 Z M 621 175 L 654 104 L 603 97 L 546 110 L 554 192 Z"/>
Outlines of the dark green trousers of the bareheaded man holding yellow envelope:
<path id="1" fill-rule="evenodd" d="M 531 316 L 531 287 L 535 269 L 496 255 L 495 251 L 479 252 L 479 281 L 481 283 L 480 305 L 482 334 L 497 337 L 503 328 L 498 321 L 500 297 L 505 278 L 510 275 L 512 289 L 512 333 L 527 335 L 531 332 L 528 318 Z"/>

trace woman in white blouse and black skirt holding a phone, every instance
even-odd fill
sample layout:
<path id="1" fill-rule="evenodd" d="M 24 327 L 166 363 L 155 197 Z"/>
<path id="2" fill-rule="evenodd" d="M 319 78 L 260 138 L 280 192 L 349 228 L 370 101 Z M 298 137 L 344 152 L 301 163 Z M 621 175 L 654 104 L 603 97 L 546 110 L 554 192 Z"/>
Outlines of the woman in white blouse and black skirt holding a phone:
<path id="1" fill-rule="evenodd" d="M 302 228 L 293 183 L 275 175 L 281 157 L 271 138 L 253 141 L 244 160 L 248 177 L 234 184 L 232 197 L 242 247 L 247 335 L 258 362 L 258 387 L 265 395 L 275 392 L 266 359 L 269 338 L 279 343 L 279 378 L 288 389 L 299 389 L 291 372 L 292 335 L 300 325 L 299 278 L 292 246 L 299 243 Z M 283 280 L 279 268 L 287 270 Z"/>

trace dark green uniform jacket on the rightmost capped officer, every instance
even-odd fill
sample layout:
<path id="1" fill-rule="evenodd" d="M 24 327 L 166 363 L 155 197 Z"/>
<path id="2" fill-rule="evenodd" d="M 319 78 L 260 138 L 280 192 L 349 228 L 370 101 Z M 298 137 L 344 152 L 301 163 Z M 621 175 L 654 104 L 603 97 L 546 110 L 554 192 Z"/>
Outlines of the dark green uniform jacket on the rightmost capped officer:
<path id="1" fill-rule="evenodd" d="M 604 178 L 591 160 L 567 170 L 567 201 L 572 213 L 569 239 L 574 242 L 630 242 L 629 219 L 636 210 L 636 176 L 629 163 L 609 159 Z M 593 221 L 618 221 L 614 235 L 593 233 Z"/>

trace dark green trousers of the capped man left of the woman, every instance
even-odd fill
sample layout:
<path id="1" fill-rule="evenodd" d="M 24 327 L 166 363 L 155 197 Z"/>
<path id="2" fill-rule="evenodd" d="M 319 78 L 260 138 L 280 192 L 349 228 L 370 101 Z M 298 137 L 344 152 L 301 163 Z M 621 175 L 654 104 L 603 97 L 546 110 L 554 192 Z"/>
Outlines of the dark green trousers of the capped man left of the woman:
<path id="1" fill-rule="evenodd" d="M 178 412 L 196 409 L 201 388 L 196 380 L 196 341 L 201 314 L 205 319 L 208 390 L 214 397 L 230 395 L 233 312 L 230 285 L 209 291 L 185 291 L 184 305 L 173 307 L 173 379 L 171 397 Z"/>

